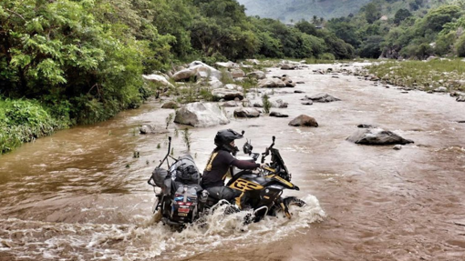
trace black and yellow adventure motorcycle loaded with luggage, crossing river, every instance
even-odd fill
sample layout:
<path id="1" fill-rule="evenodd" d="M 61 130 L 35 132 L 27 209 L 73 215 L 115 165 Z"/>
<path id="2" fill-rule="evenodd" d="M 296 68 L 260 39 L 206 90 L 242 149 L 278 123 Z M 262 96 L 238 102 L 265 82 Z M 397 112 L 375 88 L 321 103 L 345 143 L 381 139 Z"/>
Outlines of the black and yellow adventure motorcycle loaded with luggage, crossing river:
<path id="1" fill-rule="evenodd" d="M 243 132 L 244 133 L 244 132 Z M 284 189 L 299 190 L 298 186 L 291 183 L 291 174 L 284 164 L 279 150 L 273 143 L 265 149 L 261 162 L 265 162 L 266 156 L 271 154 L 271 162 L 258 170 L 241 170 L 233 167 L 233 176 L 226 186 L 242 192 L 243 209 L 253 210 L 252 216 L 247 216 L 244 222 L 258 222 L 264 216 L 276 216 L 283 212 L 288 218 L 292 217 L 289 206 L 305 206 L 305 202 L 295 196 L 283 197 Z M 249 140 L 243 146 L 243 152 L 247 157 L 238 158 L 256 162 L 260 156 L 253 153 L 253 146 Z M 192 223 L 200 216 L 213 210 L 214 206 L 229 204 L 225 200 L 218 200 L 208 195 L 207 190 L 200 186 L 200 173 L 191 156 L 181 156 L 178 159 L 170 156 L 171 137 L 169 137 L 168 153 L 160 161 L 160 166 L 167 161 L 168 169 L 157 166 L 152 172 L 148 183 L 154 187 L 157 198 L 154 213 L 157 219 L 165 225 L 183 227 Z M 170 165 L 169 159 L 175 160 Z M 161 191 L 157 192 L 156 187 Z M 229 209 L 229 210 L 228 210 Z M 227 212 L 239 211 L 233 207 L 227 208 Z"/>

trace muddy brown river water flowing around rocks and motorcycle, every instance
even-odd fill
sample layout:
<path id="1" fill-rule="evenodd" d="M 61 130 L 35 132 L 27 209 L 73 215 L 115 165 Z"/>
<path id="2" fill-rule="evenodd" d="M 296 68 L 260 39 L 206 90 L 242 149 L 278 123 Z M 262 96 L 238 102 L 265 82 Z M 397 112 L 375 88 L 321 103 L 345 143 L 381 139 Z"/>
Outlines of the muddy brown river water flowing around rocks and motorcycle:
<path id="1" fill-rule="evenodd" d="M 305 94 L 274 90 L 272 99 L 289 107 L 273 110 L 289 118 L 232 116 L 229 125 L 190 129 L 191 155 L 201 169 L 220 129 L 245 130 L 255 152 L 276 136 L 301 188 L 286 195 L 307 202 L 291 220 L 244 226 L 241 213 L 212 215 L 207 226 L 182 232 L 153 222 L 146 182 L 166 154 L 167 135 L 142 136 L 138 127 L 165 125 L 173 111 L 150 102 L 0 156 L 0 260 L 465 260 L 465 124 L 458 123 L 465 103 L 312 72 L 337 66 L 270 69 L 269 76 L 305 82 L 294 88 Z M 342 101 L 301 105 L 304 95 L 320 92 Z M 301 114 L 319 126 L 287 125 Z M 394 150 L 346 141 L 359 124 L 415 144 Z M 186 145 L 174 127 L 184 126 L 169 127 L 180 156 Z"/>

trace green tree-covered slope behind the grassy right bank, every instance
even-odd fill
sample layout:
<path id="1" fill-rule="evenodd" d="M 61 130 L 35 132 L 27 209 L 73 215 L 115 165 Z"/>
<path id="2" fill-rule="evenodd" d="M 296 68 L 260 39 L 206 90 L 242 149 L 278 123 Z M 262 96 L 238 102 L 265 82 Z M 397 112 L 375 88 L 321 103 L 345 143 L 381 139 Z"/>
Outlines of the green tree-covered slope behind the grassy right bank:
<path id="1" fill-rule="evenodd" d="M 325 27 L 354 46 L 360 57 L 463 57 L 465 2 L 439 2 L 375 0 L 357 15 L 330 19 Z"/>

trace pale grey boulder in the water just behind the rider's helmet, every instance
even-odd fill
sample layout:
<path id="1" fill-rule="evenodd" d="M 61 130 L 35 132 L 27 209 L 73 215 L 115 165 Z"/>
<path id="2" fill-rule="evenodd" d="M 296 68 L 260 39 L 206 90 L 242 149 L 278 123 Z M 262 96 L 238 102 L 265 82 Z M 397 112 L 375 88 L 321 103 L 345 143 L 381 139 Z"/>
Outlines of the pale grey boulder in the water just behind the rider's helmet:
<path id="1" fill-rule="evenodd" d="M 213 103 L 191 103 L 176 110 L 174 122 L 194 127 L 226 125 L 230 123 L 219 105 Z"/>

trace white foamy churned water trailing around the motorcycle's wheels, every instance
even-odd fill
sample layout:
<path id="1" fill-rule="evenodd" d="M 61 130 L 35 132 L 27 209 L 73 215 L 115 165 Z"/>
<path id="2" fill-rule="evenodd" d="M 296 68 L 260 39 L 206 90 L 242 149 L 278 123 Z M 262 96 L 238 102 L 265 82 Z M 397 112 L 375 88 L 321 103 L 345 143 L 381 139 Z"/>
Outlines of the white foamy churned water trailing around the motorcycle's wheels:
<path id="1" fill-rule="evenodd" d="M 243 218 L 250 212 L 224 215 L 226 206 L 220 206 L 181 231 L 155 223 L 153 216 L 133 216 L 129 225 L 0 219 L 0 238 L 12 246 L 0 247 L 0 252 L 55 260 L 186 258 L 222 247 L 271 243 L 322 221 L 325 212 L 316 197 L 308 195 L 303 200 L 305 206 L 291 206 L 291 219 L 266 216 L 245 225 Z"/>

